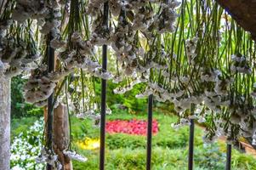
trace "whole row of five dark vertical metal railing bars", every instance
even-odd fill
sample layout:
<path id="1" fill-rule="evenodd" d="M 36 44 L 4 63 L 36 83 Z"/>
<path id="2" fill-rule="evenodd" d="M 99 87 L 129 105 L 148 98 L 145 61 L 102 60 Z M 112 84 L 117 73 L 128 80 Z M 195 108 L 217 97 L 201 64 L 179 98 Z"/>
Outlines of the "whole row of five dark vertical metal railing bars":
<path id="1" fill-rule="evenodd" d="M 109 18 L 109 4 L 104 4 L 104 26 L 108 28 Z M 54 49 L 49 46 L 51 35 L 48 36 L 48 72 L 54 71 Z M 102 71 L 107 71 L 107 45 L 102 47 Z M 101 111 L 100 111 L 100 170 L 105 169 L 105 111 L 106 111 L 106 80 L 101 80 Z M 47 141 L 48 148 L 52 148 L 52 131 L 53 131 L 53 103 L 54 94 L 48 98 L 48 118 L 47 118 Z M 147 146 L 146 146 L 146 170 L 151 170 L 151 150 L 152 150 L 152 117 L 153 117 L 153 95 L 148 98 L 148 124 L 147 124 Z M 194 133 L 195 122 L 191 119 L 190 125 L 190 139 L 189 139 L 189 156 L 188 156 L 188 169 L 193 169 L 193 156 L 194 156 Z M 226 151 L 226 170 L 230 170 L 231 166 L 231 145 L 227 144 Z M 52 166 L 47 165 L 47 169 L 51 170 Z"/>

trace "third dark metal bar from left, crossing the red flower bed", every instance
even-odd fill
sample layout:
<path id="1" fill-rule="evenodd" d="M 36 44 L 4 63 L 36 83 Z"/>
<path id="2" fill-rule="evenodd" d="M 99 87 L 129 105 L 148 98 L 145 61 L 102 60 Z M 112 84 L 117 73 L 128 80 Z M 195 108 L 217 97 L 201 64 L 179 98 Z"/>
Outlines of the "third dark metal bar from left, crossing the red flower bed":
<path id="1" fill-rule="evenodd" d="M 148 123 L 147 123 L 147 145 L 146 145 L 146 170 L 151 170 L 152 150 L 152 117 L 153 117 L 153 94 L 148 99 Z"/>

